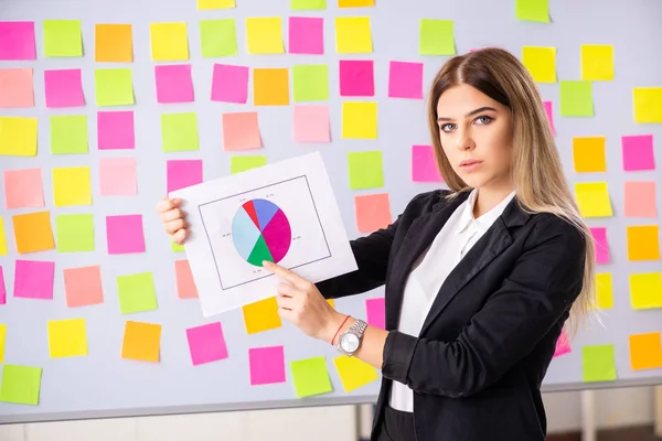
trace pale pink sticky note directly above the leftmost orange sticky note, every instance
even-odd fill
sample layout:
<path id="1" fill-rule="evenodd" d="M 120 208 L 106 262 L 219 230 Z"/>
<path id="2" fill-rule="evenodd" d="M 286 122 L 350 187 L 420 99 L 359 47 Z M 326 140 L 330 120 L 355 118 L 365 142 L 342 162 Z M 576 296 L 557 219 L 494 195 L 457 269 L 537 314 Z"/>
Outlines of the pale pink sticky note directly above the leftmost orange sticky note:
<path id="1" fill-rule="evenodd" d="M 41 169 L 6 170 L 4 204 L 9 209 L 43 207 Z"/>

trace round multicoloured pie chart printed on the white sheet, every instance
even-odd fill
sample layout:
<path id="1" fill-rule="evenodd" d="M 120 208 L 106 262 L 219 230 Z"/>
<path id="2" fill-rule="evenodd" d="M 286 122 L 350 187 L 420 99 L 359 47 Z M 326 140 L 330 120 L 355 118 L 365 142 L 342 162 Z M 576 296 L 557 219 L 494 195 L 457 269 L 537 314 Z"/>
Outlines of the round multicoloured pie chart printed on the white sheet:
<path id="1" fill-rule="evenodd" d="M 271 201 L 255 198 L 244 203 L 232 222 L 234 246 L 244 260 L 261 267 L 264 260 L 278 263 L 292 241 L 289 220 Z"/>

